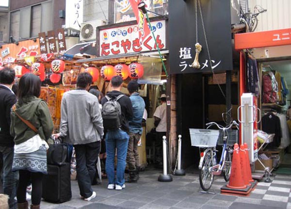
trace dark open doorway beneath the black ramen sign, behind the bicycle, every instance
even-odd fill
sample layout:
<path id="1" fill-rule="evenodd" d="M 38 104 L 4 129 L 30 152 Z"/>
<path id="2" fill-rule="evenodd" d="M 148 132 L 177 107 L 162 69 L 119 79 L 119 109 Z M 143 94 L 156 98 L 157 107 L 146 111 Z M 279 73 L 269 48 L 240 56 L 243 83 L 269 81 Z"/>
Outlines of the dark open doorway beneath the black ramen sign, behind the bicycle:
<path id="1" fill-rule="evenodd" d="M 223 72 L 221 77 L 225 78 Z M 237 120 L 239 101 L 237 71 L 232 72 L 230 97 L 231 108 L 226 110 L 226 98 L 217 83 L 213 82 L 212 74 L 189 73 L 180 74 L 178 82 L 178 133 L 182 133 L 183 167 L 193 166 L 198 169 L 199 149 L 191 146 L 189 128 L 204 129 L 205 123 L 217 122 L 226 125 L 226 117 Z M 226 95 L 226 82 L 220 81 L 220 87 Z"/>

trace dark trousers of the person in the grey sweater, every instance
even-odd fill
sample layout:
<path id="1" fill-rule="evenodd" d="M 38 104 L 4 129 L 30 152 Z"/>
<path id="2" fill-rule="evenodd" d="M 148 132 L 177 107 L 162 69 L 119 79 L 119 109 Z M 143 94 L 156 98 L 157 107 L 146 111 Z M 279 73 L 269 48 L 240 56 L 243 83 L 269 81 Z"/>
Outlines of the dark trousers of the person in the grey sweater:
<path id="1" fill-rule="evenodd" d="M 96 159 L 100 152 L 100 141 L 89 144 L 77 144 L 74 147 L 80 194 L 84 198 L 88 198 L 93 193 L 91 184 L 97 172 Z"/>

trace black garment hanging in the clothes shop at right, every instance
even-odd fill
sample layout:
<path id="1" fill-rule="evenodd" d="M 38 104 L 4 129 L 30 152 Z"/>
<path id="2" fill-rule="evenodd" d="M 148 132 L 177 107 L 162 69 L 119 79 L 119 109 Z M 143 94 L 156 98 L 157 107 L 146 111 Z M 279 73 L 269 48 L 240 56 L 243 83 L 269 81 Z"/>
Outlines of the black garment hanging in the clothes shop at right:
<path id="1" fill-rule="evenodd" d="M 281 122 L 278 116 L 269 112 L 262 117 L 262 131 L 268 134 L 275 134 L 273 142 L 268 144 L 268 148 L 276 148 L 281 143 L 282 132 Z"/>

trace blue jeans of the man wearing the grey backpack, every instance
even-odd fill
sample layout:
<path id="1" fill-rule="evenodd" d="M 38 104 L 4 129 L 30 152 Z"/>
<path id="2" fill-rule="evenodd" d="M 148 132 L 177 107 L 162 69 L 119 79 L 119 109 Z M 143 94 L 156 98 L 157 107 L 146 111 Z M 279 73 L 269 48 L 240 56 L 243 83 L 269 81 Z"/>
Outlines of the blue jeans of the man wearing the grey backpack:
<path id="1" fill-rule="evenodd" d="M 126 155 L 129 144 L 129 135 L 122 130 L 110 130 L 106 133 L 106 173 L 108 184 L 122 186 L 125 182 L 124 171 L 126 167 Z M 114 157 L 117 149 L 116 178 L 114 175 Z"/>

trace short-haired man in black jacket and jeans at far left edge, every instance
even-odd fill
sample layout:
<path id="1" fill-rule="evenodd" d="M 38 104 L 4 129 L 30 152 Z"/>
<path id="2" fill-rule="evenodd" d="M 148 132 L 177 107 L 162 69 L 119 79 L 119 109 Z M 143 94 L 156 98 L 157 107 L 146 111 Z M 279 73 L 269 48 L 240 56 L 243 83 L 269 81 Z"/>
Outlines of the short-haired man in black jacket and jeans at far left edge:
<path id="1" fill-rule="evenodd" d="M 12 172 L 14 140 L 10 135 L 10 111 L 16 103 L 16 95 L 11 90 L 15 83 L 15 70 L 0 70 L 0 153 L 3 157 L 3 190 L 9 195 L 9 208 L 16 209 L 16 184 L 18 172 Z"/>

